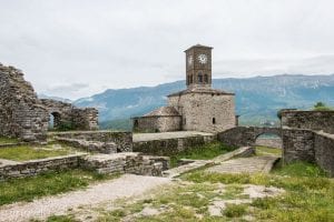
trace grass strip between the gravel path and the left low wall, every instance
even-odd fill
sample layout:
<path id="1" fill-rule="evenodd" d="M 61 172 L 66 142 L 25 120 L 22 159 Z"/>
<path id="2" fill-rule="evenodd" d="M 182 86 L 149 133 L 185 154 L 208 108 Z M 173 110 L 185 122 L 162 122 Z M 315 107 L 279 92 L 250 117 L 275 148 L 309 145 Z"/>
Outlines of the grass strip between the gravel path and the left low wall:
<path id="1" fill-rule="evenodd" d="M 32 178 L 11 179 L 0 182 L 0 205 L 17 201 L 32 201 L 36 198 L 63 193 L 95 181 L 108 180 L 116 175 L 104 175 L 84 170 L 49 172 Z"/>

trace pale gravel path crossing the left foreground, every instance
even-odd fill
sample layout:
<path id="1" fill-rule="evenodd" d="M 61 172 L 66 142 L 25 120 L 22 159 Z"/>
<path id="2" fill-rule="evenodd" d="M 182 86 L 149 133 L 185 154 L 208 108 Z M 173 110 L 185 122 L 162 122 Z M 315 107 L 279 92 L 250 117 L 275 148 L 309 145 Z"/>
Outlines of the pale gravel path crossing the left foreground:
<path id="1" fill-rule="evenodd" d="M 86 190 L 1 206 L 0 221 L 19 222 L 29 221 L 32 218 L 43 219 L 55 213 L 65 213 L 68 209 L 79 205 L 94 205 L 104 201 L 140 195 L 169 182 L 167 178 L 126 174 L 112 181 L 91 185 Z"/>

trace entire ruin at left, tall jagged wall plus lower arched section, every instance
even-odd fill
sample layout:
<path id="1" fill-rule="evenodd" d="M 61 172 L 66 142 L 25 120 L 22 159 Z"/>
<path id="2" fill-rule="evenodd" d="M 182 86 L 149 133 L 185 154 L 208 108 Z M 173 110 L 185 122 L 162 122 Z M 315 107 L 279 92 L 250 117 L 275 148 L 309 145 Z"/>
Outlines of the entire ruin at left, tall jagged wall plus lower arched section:
<path id="1" fill-rule="evenodd" d="M 98 111 L 70 103 L 39 100 L 23 73 L 0 63 L 0 135 L 24 142 L 46 142 L 53 115 L 55 128 L 69 124 L 72 130 L 98 129 Z"/>

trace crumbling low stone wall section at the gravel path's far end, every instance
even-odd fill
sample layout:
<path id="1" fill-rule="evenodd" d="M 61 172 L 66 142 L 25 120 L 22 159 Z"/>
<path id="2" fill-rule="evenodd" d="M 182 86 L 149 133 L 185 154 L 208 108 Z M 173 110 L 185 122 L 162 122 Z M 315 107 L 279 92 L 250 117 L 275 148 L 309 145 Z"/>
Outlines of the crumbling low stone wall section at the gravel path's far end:
<path id="1" fill-rule="evenodd" d="M 96 170 L 99 173 L 132 173 L 140 175 L 163 175 L 164 170 L 163 162 L 134 152 L 89 155 L 82 161 L 82 167 Z"/>

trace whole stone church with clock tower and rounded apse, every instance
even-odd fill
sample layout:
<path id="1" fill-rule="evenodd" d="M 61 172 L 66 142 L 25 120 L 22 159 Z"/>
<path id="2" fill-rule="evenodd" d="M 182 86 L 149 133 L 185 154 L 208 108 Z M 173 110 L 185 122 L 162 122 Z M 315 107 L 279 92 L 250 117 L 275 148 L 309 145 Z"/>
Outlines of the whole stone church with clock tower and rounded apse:
<path id="1" fill-rule="evenodd" d="M 196 44 L 185 51 L 187 89 L 169 94 L 167 107 L 132 118 L 134 131 L 219 132 L 236 127 L 235 94 L 212 88 L 212 50 Z"/>

